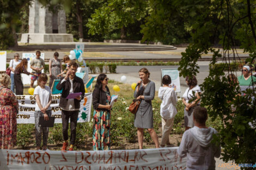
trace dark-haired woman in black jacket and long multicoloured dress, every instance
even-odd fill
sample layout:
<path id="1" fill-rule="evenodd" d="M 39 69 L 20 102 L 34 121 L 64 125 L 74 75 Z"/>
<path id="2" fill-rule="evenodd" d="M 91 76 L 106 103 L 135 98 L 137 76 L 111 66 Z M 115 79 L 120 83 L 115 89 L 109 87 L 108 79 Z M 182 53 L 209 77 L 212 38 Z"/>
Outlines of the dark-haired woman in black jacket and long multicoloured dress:
<path id="1" fill-rule="evenodd" d="M 97 77 L 93 91 L 93 150 L 110 149 L 111 96 L 106 74 Z"/>

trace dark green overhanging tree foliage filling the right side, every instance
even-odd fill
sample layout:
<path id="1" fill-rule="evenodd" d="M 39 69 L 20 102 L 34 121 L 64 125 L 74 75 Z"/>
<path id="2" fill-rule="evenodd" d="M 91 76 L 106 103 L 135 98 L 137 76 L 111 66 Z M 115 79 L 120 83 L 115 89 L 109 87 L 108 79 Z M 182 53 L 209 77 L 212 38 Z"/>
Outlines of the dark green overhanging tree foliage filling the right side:
<path id="1" fill-rule="evenodd" d="M 212 67 L 208 77 L 201 85 L 202 105 L 208 108 L 212 118 L 220 117 L 225 127 L 220 130 L 218 140 L 223 148 L 223 160 L 234 160 L 235 163 L 255 162 L 256 160 L 256 130 L 249 126 L 249 122 L 256 119 L 255 89 L 246 91 L 245 96 L 240 93 L 237 83 L 228 81 L 231 73 L 231 59 L 241 63 L 237 57 L 236 47 L 240 45 L 249 53 L 249 60 L 255 59 L 255 2 L 242 1 L 201 1 L 204 9 L 192 17 L 192 43 L 182 53 L 180 61 L 180 75 L 196 75 L 197 61 L 204 53 L 212 53 L 210 65 L 214 66 L 217 59 L 222 59 L 228 66 L 228 73 L 224 67 Z M 188 12 L 193 12 L 193 4 L 186 4 Z M 192 11 L 191 11 L 192 10 Z M 198 10 L 197 10 L 198 12 Z M 209 18 L 214 17 L 212 20 Z M 191 22 L 192 23 L 192 22 Z M 212 48 L 215 40 L 220 40 L 223 51 Z M 234 116 L 233 116 L 234 115 Z M 229 120 L 232 122 L 230 123 Z"/>

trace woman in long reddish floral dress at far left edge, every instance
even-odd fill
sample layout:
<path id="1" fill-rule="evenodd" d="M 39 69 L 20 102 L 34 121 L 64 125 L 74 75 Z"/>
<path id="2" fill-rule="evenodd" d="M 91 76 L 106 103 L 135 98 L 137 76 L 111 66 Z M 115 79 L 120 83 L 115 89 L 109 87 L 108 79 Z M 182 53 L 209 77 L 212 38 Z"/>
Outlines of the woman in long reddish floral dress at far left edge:
<path id="1" fill-rule="evenodd" d="M 14 93 L 7 88 L 9 84 L 9 75 L 0 74 L 0 149 L 11 149 L 16 144 L 19 104 Z"/>

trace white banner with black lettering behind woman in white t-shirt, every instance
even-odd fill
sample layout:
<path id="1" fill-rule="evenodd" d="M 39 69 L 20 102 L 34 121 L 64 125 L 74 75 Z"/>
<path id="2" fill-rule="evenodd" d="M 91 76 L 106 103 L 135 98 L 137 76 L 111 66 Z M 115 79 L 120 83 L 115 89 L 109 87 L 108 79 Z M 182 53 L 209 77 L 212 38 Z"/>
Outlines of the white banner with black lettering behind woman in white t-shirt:
<path id="1" fill-rule="evenodd" d="M 59 107 L 59 99 L 61 95 L 52 95 L 52 116 L 55 117 L 54 123 L 62 123 L 62 110 Z M 84 97 L 87 102 L 84 105 L 84 99 L 80 102 L 80 112 L 77 122 L 89 122 L 90 112 L 92 110 L 92 93 L 85 93 Z M 17 95 L 16 99 L 19 102 L 19 114 L 17 114 L 17 123 L 35 123 L 35 96 Z M 1 169 L 1 168 L 0 168 Z"/>

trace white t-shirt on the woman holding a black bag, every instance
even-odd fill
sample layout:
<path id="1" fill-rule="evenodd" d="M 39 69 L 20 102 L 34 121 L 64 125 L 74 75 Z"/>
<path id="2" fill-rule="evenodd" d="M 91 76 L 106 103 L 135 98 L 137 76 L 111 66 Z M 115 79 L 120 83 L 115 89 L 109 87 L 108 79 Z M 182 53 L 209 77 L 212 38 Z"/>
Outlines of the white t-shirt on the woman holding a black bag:
<path id="1" fill-rule="evenodd" d="M 40 103 L 43 108 L 48 104 L 51 93 L 52 92 L 49 86 L 45 86 L 44 89 L 42 89 L 40 86 L 36 86 L 34 90 L 34 95 L 39 95 Z M 37 103 L 35 103 L 35 110 L 40 111 Z M 49 106 L 47 110 L 51 110 L 51 106 Z"/>

